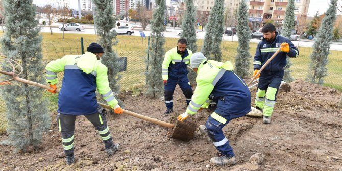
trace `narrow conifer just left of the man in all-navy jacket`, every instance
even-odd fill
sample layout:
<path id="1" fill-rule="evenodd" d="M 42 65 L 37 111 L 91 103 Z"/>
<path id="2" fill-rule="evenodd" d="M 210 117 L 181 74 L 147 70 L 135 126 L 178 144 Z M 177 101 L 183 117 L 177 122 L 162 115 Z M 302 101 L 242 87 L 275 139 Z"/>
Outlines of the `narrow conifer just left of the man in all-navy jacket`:
<path id="1" fill-rule="evenodd" d="M 240 1 L 237 20 L 237 36 L 239 45 L 237 46 L 237 56 L 235 58 L 236 74 L 243 77 L 249 75 L 250 58 L 250 35 L 251 30 L 248 25 L 248 7 L 245 1 Z"/>

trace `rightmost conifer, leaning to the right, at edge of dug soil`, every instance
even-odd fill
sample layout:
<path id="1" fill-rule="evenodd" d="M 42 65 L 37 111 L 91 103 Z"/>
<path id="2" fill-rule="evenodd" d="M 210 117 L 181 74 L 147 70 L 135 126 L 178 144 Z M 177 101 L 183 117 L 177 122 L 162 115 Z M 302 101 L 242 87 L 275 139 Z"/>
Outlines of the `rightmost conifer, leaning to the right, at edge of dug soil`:
<path id="1" fill-rule="evenodd" d="M 311 63 L 306 77 L 306 80 L 311 83 L 323 84 L 323 78 L 328 75 L 326 65 L 328 64 L 332 29 L 336 20 L 336 3 L 337 0 L 330 1 L 329 8 L 317 33 L 317 39 L 312 46 Z"/>

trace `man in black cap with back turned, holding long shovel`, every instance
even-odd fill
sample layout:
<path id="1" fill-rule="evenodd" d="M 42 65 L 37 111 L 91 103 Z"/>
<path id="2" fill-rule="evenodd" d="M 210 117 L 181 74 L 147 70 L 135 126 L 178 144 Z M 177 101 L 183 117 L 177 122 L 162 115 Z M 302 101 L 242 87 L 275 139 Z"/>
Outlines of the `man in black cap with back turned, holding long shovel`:
<path id="1" fill-rule="evenodd" d="M 99 92 L 116 114 L 123 110 L 109 88 L 107 67 L 101 63 L 104 51 L 100 44 L 91 43 L 83 55 L 66 55 L 46 66 L 46 79 L 55 93 L 57 73 L 64 71 L 62 88 L 58 96 L 57 127 L 62 134 L 66 164 L 74 163 L 74 130 L 76 116 L 84 115 L 97 129 L 105 144 L 106 153 L 113 155 L 119 144 L 113 143 L 106 121 L 106 110 L 97 104 Z"/>

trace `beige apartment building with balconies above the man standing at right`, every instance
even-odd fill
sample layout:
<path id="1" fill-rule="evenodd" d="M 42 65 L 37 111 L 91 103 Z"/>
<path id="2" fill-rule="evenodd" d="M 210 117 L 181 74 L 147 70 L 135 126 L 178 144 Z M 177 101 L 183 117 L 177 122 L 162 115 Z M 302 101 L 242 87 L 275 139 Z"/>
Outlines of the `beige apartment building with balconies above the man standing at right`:
<path id="1" fill-rule="evenodd" d="M 282 28 L 288 0 L 247 0 L 249 20 L 254 29 L 259 29 L 268 20 L 273 20 L 279 31 Z M 310 0 L 295 0 L 295 21 L 306 19 Z"/>

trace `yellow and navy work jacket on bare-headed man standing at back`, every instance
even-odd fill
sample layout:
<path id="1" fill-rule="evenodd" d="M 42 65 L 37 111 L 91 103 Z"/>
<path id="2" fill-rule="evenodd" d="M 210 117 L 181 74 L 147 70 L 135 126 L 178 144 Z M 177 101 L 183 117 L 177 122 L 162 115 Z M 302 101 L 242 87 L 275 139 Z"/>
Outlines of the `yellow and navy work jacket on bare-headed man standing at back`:
<path id="1" fill-rule="evenodd" d="M 183 57 L 177 53 L 177 47 L 167 51 L 161 67 L 163 80 L 186 80 L 188 74 L 186 66 L 190 63 L 191 56 L 192 51 L 188 49 L 184 51 Z"/>

